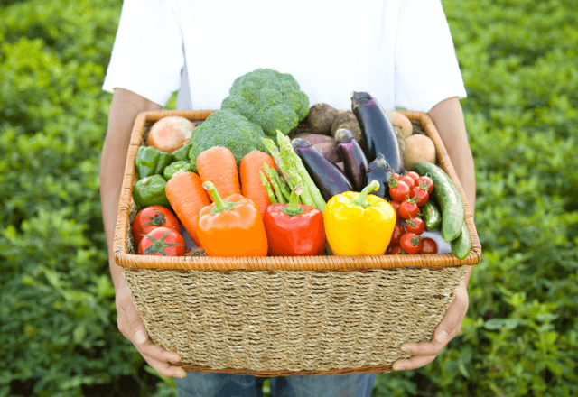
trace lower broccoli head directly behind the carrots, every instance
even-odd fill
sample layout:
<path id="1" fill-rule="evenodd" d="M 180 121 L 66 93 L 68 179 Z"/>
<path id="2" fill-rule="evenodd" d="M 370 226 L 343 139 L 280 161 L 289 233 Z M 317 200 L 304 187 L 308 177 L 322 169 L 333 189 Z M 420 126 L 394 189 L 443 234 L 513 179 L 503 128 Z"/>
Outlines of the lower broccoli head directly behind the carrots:
<path id="1" fill-rule="evenodd" d="M 212 113 L 198 127 L 192 130 L 189 159 L 192 171 L 197 171 L 197 156 L 200 152 L 213 146 L 225 146 L 233 152 L 237 165 L 245 154 L 254 150 L 264 152 L 261 141 L 263 129 L 247 120 L 247 117 L 236 115 L 228 110 Z"/>

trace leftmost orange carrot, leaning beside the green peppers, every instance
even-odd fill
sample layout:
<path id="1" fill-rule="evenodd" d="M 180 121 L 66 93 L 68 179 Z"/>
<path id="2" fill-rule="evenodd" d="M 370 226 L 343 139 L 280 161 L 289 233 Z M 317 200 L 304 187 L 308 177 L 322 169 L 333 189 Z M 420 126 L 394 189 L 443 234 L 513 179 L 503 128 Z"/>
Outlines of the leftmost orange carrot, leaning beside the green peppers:
<path id="1" fill-rule="evenodd" d="M 166 182 L 164 190 L 182 226 L 189 232 L 191 240 L 200 246 L 195 227 L 200 209 L 210 205 L 210 199 L 207 191 L 202 189 L 199 175 L 191 171 L 178 171 Z"/>

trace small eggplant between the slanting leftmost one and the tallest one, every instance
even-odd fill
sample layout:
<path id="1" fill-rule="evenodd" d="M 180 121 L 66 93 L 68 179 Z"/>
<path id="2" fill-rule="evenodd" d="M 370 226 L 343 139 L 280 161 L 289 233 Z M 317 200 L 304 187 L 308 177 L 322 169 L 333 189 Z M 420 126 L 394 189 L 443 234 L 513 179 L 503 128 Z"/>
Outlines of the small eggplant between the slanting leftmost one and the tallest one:
<path id="1" fill-rule="evenodd" d="M 345 128 L 340 128 L 335 132 L 335 141 L 343 161 L 345 175 L 349 178 L 353 189 L 361 191 L 361 189 L 366 187 L 364 182 L 368 171 L 368 159 L 363 149 L 361 149 L 350 130 Z"/>

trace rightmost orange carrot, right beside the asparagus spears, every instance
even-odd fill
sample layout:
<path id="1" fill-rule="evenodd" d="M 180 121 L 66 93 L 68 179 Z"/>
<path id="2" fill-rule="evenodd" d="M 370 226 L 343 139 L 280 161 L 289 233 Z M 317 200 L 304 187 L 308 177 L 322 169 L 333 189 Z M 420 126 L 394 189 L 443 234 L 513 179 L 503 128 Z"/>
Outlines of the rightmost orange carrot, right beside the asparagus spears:
<path id="1" fill-rule="evenodd" d="M 267 164 L 269 167 L 275 169 L 273 157 L 266 152 L 248 152 L 243 156 L 243 159 L 241 159 L 239 170 L 243 196 L 255 201 L 257 207 L 261 210 L 261 216 L 265 215 L 266 208 L 271 204 L 271 199 L 269 199 L 269 195 L 267 194 L 265 186 L 263 186 L 259 173 L 260 171 L 265 173 L 265 166 L 263 164 Z"/>

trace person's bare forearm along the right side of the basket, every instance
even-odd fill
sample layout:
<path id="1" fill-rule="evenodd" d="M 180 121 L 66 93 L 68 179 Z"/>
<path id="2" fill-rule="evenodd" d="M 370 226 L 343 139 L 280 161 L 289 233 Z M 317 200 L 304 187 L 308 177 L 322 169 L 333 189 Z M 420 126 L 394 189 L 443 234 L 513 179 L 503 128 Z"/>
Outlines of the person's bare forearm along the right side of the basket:
<path id="1" fill-rule="evenodd" d="M 450 156 L 473 215 L 476 206 L 476 171 L 460 100 L 457 97 L 445 99 L 433 106 L 429 115 L 442 137 L 443 146 Z M 463 279 L 465 285 L 468 285 L 470 275 L 471 266 Z"/>

